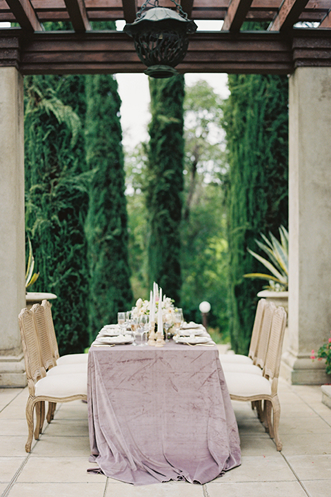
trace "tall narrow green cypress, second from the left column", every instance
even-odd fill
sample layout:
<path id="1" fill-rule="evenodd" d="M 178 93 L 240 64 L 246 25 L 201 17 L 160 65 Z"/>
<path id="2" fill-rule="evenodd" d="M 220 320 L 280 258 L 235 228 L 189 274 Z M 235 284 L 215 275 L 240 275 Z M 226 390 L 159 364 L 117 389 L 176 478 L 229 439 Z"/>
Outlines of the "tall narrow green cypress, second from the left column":
<path id="1" fill-rule="evenodd" d="M 112 75 L 86 79 L 86 161 L 92 171 L 86 220 L 90 267 L 89 321 L 93 338 L 117 312 L 130 309 L 132 291 L 128 264 L 120 106 Z"/>

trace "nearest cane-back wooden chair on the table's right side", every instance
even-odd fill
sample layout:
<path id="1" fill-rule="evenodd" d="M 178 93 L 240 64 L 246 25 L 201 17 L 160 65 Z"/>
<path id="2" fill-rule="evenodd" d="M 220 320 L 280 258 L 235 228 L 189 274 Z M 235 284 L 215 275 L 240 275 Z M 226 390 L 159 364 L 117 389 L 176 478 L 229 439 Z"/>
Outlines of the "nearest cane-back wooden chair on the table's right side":
<path id="1" fill-rule="evenodd" d="M 277 307 L 272 315 L 263 376 L 224 371 L 225 381 L 232 400 L 250 401 L 252 403 L 258 402 L 259 404 L 264 401 L 263 420 L 266 423 L 270 438 L 274 438 L 277 450 L 279 451 L 282 448 L 278 432 L 281 406 L 277 395 L 277 387 L 285 326 L 285 309 Z"/>

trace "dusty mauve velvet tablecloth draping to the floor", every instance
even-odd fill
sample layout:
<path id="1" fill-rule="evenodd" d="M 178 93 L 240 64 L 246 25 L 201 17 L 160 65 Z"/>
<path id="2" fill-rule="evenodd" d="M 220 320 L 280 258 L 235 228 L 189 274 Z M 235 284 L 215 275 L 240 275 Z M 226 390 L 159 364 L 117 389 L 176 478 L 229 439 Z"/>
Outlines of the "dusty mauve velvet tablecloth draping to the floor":
<path id="1" fill-rule="evenodd" d="M 90 461 L 136 485 L 207 483 L 241 462 L 217 347 L 91 347 Z"/>

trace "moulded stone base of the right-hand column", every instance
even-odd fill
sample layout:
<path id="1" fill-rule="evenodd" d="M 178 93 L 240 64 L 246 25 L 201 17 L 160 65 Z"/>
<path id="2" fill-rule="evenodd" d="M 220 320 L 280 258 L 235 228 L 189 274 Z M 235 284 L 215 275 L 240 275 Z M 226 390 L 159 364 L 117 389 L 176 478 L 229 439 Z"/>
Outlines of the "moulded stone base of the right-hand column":
<path id="1" fill-rule="evenodd" d="M 282 355 L 280 376 L 291 384 L 323 384 L 331 381 L 322 361 L 312 361 L 309 355 L 295 355 L 290 350 Z"/>

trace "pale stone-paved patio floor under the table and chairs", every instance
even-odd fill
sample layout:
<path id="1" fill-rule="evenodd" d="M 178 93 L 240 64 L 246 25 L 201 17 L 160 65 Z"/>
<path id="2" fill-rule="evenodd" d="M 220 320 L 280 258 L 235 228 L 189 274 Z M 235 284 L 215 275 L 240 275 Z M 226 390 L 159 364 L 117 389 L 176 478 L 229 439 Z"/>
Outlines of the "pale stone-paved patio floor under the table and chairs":
<path id="1" fill-rule="evenodd" d="M 159 483 L 134 487 L 88 474 L 87 406 L 59 405 L 54 420 L 26 454 L 28 389 L 0 389 L 1 497 L 326 497 L 331 489 L 331 409 L 320 387 L 280 380 L 280 433 L 274 442 L 247 402 L 233 402 L 242 464 L 206 485 Z"/>

